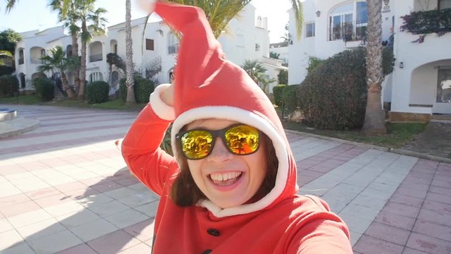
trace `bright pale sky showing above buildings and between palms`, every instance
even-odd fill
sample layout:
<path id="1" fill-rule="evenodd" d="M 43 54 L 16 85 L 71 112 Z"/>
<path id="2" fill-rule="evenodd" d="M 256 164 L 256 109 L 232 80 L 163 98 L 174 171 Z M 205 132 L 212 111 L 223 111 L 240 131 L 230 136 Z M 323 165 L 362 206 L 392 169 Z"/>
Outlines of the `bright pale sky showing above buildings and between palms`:
<path id="1" fill-rule="evenodd" d="M 11 28 L 16 32 L 30 30 L 44 30 L 58 26 L 58 14 L 47 6 L 50 0 L 16 0 L 16 6 L 6 13 L 6 3 L 0 0 L 0 31 Z M 132 19 L 142 18 L 147 14 L 140 10 L 132 0 Z M 125 21 L 125 0 L 97 0 L 97 7 L 105 8 L 105 18 L 109 20 L 107 26 Z M 268 17 L 268 30 L 270 42 L 280 42 L 285 34 L 285 25 L 288 23 L 289 0 L 252 0 L 255 6 L 255 17 Z"/>

